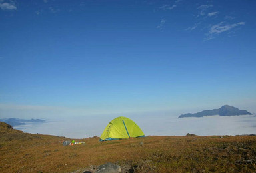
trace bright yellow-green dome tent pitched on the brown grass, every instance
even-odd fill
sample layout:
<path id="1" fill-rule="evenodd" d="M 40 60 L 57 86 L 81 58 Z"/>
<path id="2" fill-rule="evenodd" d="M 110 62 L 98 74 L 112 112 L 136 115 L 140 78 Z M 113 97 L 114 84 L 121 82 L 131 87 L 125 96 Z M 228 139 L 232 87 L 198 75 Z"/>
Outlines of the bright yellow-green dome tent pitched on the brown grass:
<path id="1" fill-rule="evenodd" d="M 137 137 L 145 137 L 141 128 L 133 120 L 119 116 L 107 124 L 101 134 L 100 141 Z"/>

